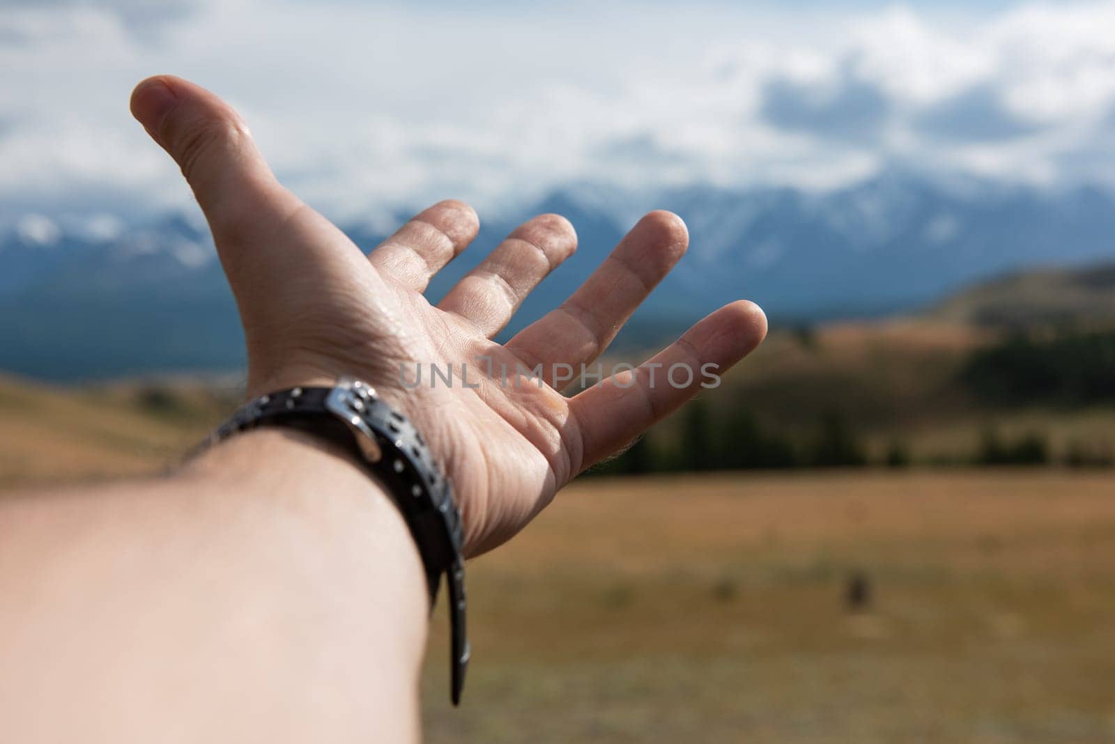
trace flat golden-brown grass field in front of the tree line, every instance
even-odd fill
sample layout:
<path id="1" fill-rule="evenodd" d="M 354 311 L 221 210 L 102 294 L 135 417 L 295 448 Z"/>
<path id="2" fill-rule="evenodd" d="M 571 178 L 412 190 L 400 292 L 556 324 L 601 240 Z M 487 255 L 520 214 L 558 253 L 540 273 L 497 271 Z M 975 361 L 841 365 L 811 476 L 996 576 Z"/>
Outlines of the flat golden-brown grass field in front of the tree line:
<path id="1" fill-rule="evenodd" d="M 1108 473 L 591 481 L 469 593 L 434 743 L 1115 742 Z"/>

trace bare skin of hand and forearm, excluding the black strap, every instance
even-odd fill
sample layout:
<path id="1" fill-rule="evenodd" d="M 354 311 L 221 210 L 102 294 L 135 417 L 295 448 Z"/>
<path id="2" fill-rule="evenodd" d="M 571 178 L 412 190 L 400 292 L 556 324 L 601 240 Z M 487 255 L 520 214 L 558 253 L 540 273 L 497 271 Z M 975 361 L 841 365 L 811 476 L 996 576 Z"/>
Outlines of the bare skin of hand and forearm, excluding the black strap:
<path id="1" fill-rule="evenodd" d="M 757 306 L 733 303 L 649 360 L 663 366 L 565 397 L 555 365 L 595 360 L 683 255 L 676 215 L 644 216 L 565 303 L 497 344 L 574 252 L 564 218 L 526 222 L 432 305 L 430 277 L 476 235 L 467 205 L 429 207 L 366 256 L 275 180 L 213 94 L 149 78 L 132 111 L 210 223 L 244 325 L 249 394 L 345 374 L 375 385 L 452 480 L 468 556 L 700 391 L 699 372 L 677 388 L 662 369 L 723 373 L 766 333 Z M 546 384 L 399 381 L 400 364 L 474 370 L 478 358 L 542 364 Z M 3 741 L 419 737 L 420 559 L 377 481 L 342 452 L 261 430 L 157 480 L 8 498 L 0 536 Z"/>

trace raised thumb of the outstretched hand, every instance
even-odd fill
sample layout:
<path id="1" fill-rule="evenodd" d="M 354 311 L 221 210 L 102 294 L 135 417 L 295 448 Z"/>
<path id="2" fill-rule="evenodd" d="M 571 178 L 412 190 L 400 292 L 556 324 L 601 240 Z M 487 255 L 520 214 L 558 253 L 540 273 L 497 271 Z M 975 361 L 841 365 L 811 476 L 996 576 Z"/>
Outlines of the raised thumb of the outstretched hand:
<path id="1" fill-rule="evenodd" d="M 201 86 L 147 78 L 132 91 L 132 114 L 182 168 L 219 248 L 237 242 L 245 226 L 301 206 L 275 180 L 240 115 Z"/>

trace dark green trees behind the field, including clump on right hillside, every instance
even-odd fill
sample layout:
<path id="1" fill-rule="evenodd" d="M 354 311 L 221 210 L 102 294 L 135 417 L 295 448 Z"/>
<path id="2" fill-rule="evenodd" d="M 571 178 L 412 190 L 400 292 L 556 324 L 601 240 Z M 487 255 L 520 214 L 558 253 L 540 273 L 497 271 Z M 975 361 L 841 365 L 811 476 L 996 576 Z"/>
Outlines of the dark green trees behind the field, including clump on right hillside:
<path id="1" fill-rule="evenodd" d="M 1111 405 L 1115 403 L 1115 332 L 1014 335 L 972 352 L 957 382 L 971 393 L 977 413 Z M 789 434 L 762 425 L 745 407 L 714 405 L 708 399 L 698 399 L 682 411 L 680 422 L 640 439 L 594 472 L 1115 463 L 1115 453 L 1103 443 L 1073 441 L 1055 456 L 1041 432 L 1008 435 L 993 427 L 983 429 L 967 457 L 915 462 L 901 437 L 893 438 L 884 451 L 878 449 L 874 456 L 869 454 L 854 415 L 840 410 L 818 412 L 809 433 Z"/>

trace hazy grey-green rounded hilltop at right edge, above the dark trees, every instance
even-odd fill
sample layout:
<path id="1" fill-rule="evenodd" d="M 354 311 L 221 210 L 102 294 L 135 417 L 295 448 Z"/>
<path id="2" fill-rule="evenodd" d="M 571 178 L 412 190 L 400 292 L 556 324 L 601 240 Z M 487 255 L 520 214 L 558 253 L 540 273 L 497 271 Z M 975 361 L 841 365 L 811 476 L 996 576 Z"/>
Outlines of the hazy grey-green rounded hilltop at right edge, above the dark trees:
<path id="1" fill-rule="evenodd" d="M 1015 272 L 963 290 L 928 314 L 1007 330 L 1109 327 L 1115 325 L 1115 263 Z"/>

